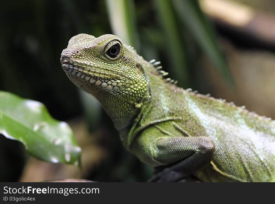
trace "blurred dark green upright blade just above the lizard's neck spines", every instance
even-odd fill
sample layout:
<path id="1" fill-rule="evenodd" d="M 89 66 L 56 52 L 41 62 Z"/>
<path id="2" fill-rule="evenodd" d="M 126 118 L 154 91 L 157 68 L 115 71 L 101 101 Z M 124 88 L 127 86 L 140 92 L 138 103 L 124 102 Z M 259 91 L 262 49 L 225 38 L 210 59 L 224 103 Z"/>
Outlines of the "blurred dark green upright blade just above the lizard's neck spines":
<path id="1" fill-rule="evenodd" d="M 187 88 L 188 71 L 186 67 L 185 50 L 183 40 L 181 40 L 180 32 L 177 27 L 175 15 L 171 1 L 169 0 L 155 0 L 158 16 L 163 29 L 165 31 L 164 46 L 168 47 L 167 54 L 170 56 L 171 75 L 178 80 L 178 85 Z"/>

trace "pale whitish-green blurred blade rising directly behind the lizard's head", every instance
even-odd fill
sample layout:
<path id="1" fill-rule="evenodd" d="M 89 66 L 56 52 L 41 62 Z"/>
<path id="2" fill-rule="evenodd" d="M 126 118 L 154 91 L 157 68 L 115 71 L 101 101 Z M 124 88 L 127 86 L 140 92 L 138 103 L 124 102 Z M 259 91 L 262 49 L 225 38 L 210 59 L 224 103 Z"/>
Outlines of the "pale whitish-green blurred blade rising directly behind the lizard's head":
<path id="1" fill-rule="evenodd" d="M 106 6 L 113 33 L 123 43 L 131 45 L 139 51 L 140 45 L 134 18 L 133 0 L 106 0 Z"/>

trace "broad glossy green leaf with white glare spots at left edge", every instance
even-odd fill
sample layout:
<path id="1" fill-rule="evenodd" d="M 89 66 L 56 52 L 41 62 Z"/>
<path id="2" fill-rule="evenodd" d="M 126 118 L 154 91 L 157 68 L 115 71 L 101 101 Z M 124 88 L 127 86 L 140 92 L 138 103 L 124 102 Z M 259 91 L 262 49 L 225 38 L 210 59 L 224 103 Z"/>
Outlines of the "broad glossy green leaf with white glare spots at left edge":
<path id="1" fill-rule="evenodd" d="M 0 91 L 0 134 L 22 142 L 37 159 L 80 165 L 81 149 L 70 126 L 53 119 L 41 102 Z"/>

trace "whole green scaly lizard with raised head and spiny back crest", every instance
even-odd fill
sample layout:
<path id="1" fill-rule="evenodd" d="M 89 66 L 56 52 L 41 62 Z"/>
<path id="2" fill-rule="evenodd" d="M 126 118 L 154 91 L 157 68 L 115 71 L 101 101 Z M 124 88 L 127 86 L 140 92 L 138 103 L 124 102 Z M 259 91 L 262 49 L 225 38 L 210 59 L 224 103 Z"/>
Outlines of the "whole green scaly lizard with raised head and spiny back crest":
<path id="1" fill-rule="evenodd" d="M 73 36 L 60 60 L 102 104 L 125 148 L 161 169 L 152 181 L 275 181 L 275 121 L 177 87 L 114 35 Z"/>

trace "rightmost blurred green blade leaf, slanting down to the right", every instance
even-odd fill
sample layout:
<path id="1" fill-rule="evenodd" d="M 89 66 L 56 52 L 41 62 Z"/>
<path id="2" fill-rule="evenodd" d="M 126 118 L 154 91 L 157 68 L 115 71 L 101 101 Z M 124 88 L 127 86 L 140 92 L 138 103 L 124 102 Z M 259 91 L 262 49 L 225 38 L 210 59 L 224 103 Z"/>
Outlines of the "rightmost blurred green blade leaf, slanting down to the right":
<path id="1" fill-rule="evenodd" d="M 215 68 L 222 74 L 229 85 L 233 85 L 232 75 L 228 69 L 224 55 L 220 51 L 212 26 L 202 13 L 197 0 L 173 0 L 180 20 L 194 35 L 198 45 L 208 55 Z"/>

